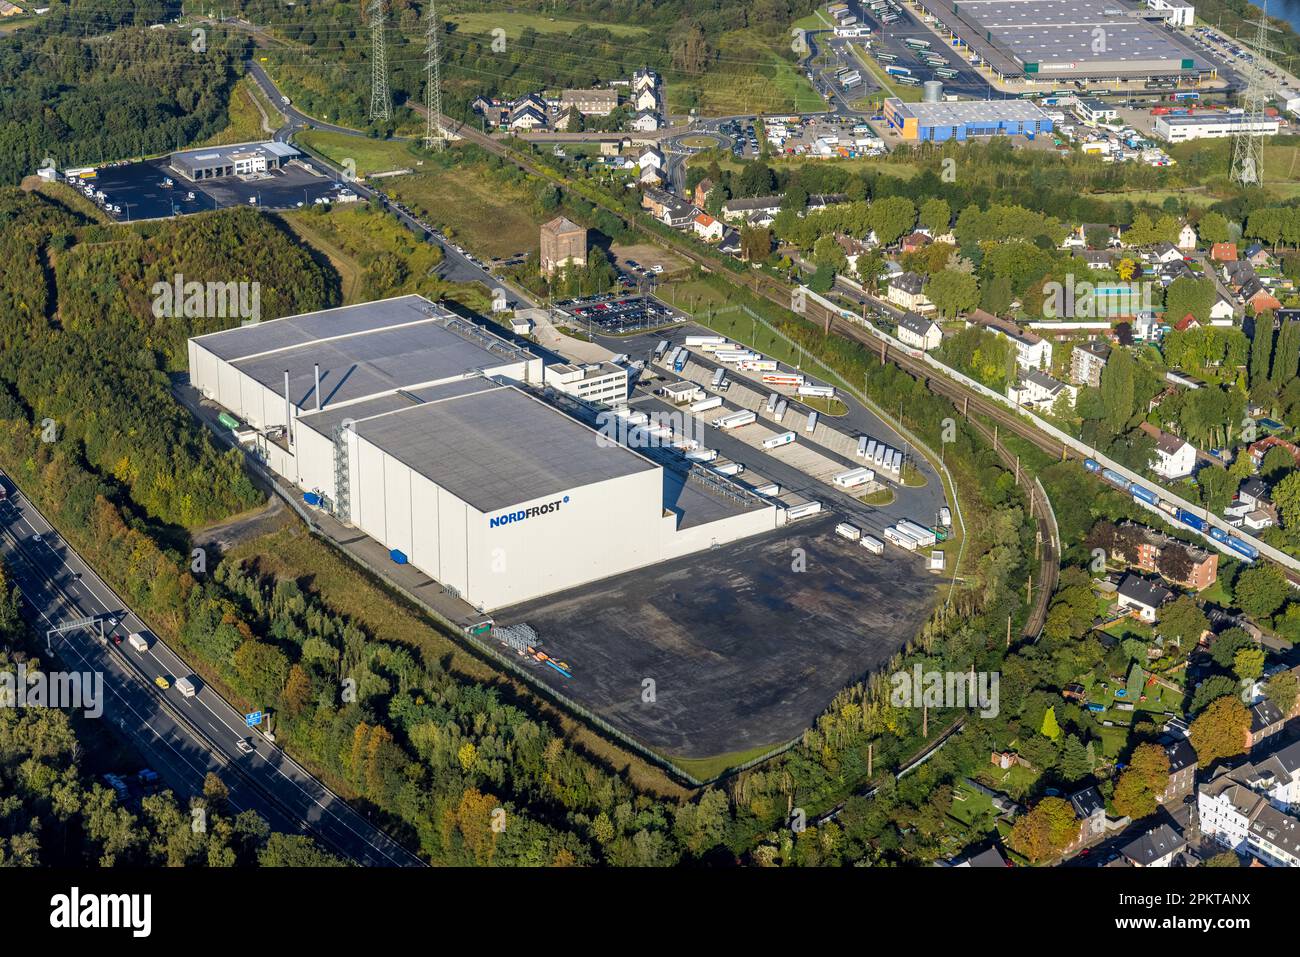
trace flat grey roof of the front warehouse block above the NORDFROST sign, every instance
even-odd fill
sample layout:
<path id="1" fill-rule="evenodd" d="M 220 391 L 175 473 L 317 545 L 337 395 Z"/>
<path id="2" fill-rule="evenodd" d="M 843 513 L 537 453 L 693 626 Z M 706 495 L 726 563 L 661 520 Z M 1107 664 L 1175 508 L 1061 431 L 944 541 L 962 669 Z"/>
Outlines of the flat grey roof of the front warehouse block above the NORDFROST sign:
<path id="1" fill-rule="evenodd" d="M 511 386 L 411 406 L 354 429 L 481 512 L 658 468 Z"/>

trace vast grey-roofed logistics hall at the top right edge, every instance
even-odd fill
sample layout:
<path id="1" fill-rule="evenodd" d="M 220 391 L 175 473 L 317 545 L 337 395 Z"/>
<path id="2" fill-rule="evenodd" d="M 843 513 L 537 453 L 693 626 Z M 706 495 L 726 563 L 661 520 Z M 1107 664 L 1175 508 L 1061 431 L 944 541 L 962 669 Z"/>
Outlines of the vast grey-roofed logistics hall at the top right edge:
<path id="1" fill-rule="evenodd" d="M 1127 0 L 919 0 L 1002 79 L 1054 83 L 1174 78 L 1214 65 L 1165 20 Z"/>

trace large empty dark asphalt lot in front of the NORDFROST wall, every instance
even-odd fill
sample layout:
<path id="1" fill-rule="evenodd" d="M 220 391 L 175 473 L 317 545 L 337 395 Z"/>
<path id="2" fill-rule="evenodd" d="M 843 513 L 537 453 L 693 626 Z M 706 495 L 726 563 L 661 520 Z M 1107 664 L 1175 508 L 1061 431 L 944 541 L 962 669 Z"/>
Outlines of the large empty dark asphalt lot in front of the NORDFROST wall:
<path id="1" fill-rule="evenodd" d="M 495 618 L 529 624 L 572 670 L 538 666 L 540 680 L 662 754 L 781 744 L 913 637 L 942 583 L 919 558 L 837 537 L 836 521 L 803 519 Z"/>

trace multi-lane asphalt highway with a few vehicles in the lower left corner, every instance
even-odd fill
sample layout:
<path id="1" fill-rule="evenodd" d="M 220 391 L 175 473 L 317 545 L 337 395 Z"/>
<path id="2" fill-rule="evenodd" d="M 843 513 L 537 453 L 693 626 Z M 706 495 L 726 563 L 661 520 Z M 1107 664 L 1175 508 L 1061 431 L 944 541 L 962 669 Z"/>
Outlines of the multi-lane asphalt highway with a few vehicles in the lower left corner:
<path id="1" fill-rule="evenodd" d="M 108 698 L 118 727 L 131 735 L 160 774 L 202 788 L 203 774 L 226 771 L 233 805 L 261 814 L 274 830 L 304 828 L 325 846 L 367 866 L 420 866 L 419 858 L 373 827 L 342 798 L 312 778 L 280 748 L 251 732 L 243 715 L 216 690 L 195 679 L 198 693 L 186 698 L 176 679 L 190 675 L 188 666 L 152 635 L 84 560 L 53 531 L 43 515 L 10 486 L 4 506 L 4 554 L 12 558 L 29 612 L 38 631 L 79 618 L 118 619 L 109 635 L 150 632 L 144 654 L 124 641 L 101 645 L 86 629 L 56 638 L 56 650 L 72 667 L 103 671 Z M 35 536 L 40 536 L 38 542 Z M 105 628 L 107 631 L 107 628 Z M 162 690 L 157 676 L 170 679 Z M 242 754 L 237 742 L 251 737 L 254 753 Z"/>

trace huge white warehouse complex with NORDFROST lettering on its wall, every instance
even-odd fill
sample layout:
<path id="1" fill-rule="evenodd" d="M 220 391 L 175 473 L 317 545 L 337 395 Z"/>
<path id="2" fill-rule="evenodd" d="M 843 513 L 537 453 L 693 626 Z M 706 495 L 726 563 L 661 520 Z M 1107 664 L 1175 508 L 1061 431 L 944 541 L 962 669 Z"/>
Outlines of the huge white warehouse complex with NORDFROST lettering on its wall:
<path id="1" fill-rule="evenodd" d="M 421 296 L 188 348 L 192 385 L 256 430 L 270 468 L 477 609 L 777 523 L 740 486 L 719 494 L 543 400 L 541 359 Z"/>

